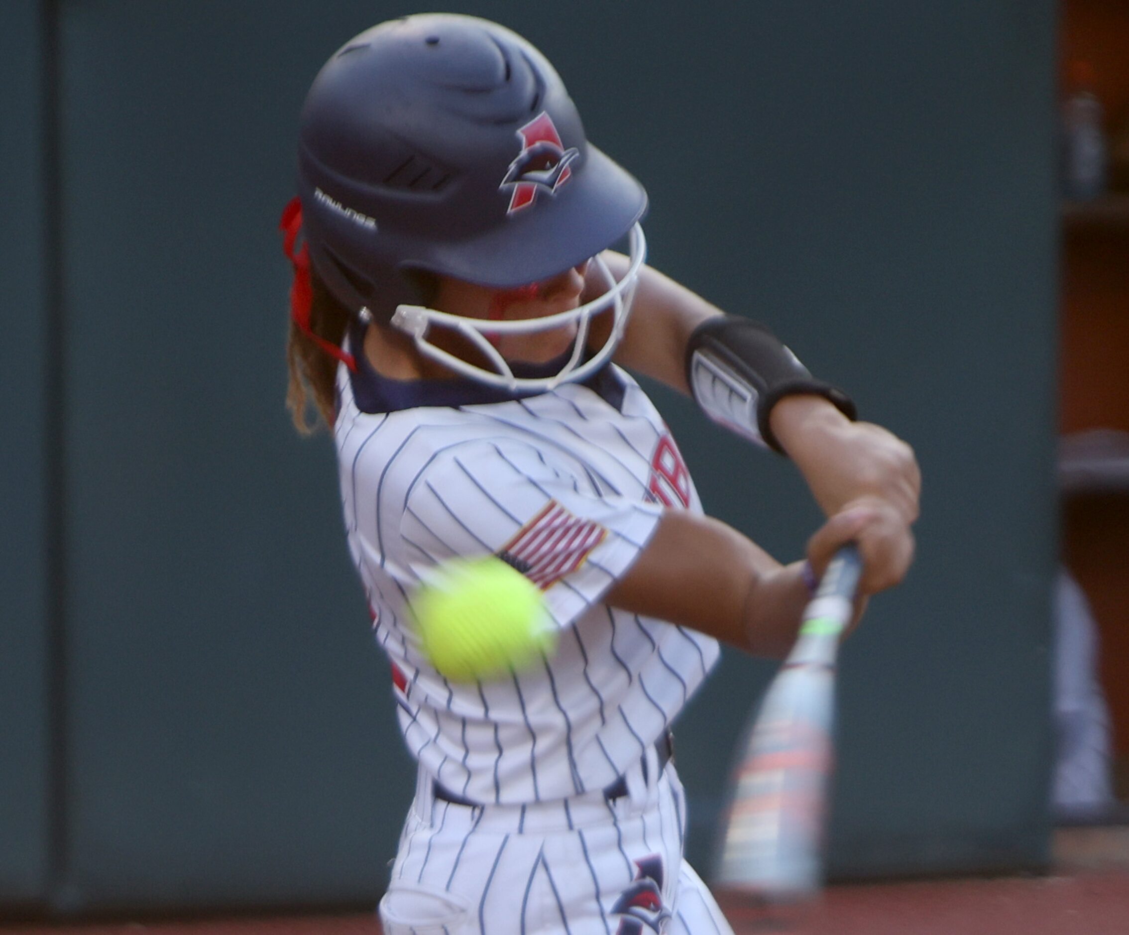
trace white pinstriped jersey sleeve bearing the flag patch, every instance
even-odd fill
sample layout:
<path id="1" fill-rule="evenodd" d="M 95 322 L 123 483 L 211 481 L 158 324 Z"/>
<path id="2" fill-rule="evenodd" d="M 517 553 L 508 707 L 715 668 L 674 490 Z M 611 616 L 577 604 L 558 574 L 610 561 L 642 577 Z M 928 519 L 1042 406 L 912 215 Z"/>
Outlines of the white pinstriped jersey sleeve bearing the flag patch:
<path id="1" fill-rule="evenodd" d="M 563 627 L 627 573 L 662 512 L 532 445 L 474 442 L 415 478 L 401 534 L 413 567 L 497 554 L 541 588 Z"/>

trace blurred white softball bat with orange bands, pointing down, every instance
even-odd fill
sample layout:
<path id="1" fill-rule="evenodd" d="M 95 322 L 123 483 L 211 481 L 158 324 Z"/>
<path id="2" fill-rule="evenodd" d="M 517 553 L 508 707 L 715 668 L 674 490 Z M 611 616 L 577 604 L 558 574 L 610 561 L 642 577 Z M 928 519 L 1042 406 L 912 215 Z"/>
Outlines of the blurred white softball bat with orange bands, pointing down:
<path id="1" fill-rule="evenodd" d="M 804 611 L 738 761 L 715 882 L 769 903 L 798 903 L 822 885 L 822 838 L 833 760 L 835 659 L 861 560 L 844 545 Z"/>

